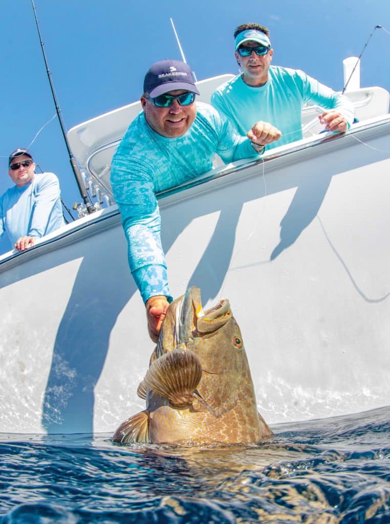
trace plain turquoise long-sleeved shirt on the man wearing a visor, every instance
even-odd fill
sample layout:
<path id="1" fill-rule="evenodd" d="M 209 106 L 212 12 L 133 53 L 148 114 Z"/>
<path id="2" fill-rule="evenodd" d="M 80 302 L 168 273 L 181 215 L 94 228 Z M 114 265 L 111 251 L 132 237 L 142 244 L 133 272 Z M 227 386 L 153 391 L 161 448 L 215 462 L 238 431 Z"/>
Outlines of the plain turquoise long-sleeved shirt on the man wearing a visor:
<path id="1" fill-rule="evenodd" d="M 220 85 L 211 104 L 227 116 L 241 135 L 259 121 L 269 122 L 281 138 L 266 149 L 289 144 L 302 136 L 301 110 L 305 104 L 339 111 L 351 126 L 353 105 L 341 93 L 309 77 L 304 71 L 271 65 L 267 82 L 260 87 L 247 85 L 237 75 Z"/>

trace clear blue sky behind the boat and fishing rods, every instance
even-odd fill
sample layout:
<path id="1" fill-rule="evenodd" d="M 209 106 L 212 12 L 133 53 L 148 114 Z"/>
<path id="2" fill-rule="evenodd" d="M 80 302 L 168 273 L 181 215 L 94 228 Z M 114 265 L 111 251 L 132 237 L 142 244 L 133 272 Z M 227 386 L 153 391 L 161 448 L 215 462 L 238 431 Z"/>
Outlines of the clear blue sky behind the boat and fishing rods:
<path id="1" fill-rule="evenodd" d="M 12 185 L 9 152 L 28 146 L 56 111 L 30 0 L 1 5 L 3 193 Z M 374 26 L 390 32 L 390 0 L 35 0 L 35 6 L 67 129 L 138 100 L 151 63 L 181 58 L 170 17 L 198 80 L 237 72 L 233 31 L 254 21 L 270 30 L 274 64 L 302 69 L 335 90 L 343 88 L 342 60 L 359 56 Z M 390 35 L 377 29 L 363 54 L 361 86 L 390 90 L 389 63 Z M 57 117 L 30 150 L 42 169 L 58 175 L 67 206 L 80 202 Z M 0 253 L 9 248 L 4 235 Z"/>

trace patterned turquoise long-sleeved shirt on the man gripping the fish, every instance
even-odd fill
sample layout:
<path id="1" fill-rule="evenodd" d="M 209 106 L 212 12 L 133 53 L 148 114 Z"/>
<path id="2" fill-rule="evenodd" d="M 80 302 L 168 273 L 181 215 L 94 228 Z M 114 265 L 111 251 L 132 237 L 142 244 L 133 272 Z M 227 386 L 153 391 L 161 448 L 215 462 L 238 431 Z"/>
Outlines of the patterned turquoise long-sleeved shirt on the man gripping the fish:
<path id="1" fill-rule="evenodd" d="M 115 151 L 111 185 L 122 214 L 129 266 L 144 302 L 157 295 L 172 300 L 155 194 L 210 170 L 215 153 L 225 163 L 258 157 L 248 138 L 239 136 L 227 118 L 201 102 L 185 135 L 159 135 L 142 112 Z"/>

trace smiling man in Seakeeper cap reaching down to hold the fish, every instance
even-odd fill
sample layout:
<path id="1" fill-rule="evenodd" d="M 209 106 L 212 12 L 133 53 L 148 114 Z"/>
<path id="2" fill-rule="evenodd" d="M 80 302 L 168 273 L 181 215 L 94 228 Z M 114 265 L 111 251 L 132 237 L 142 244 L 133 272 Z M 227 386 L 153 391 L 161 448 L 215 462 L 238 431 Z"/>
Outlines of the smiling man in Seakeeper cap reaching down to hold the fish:
<path id="1" fill-rule="evenodd" d="M 160 238 L 155 193 L 196 178 L 225 163 L 257 157 L 280 137 L 274 126 L 251 126 L 236 133 L 224 115 L 196 103 L 199 91 L 185 62 L 163 60 L 151 66 L 140 101 L 143 112 L 128 127 L 115 151 L 111 185 L 122 214 L 132 275 L 146 306 L 149 335 L 157 341 L 172 297 Z"/>

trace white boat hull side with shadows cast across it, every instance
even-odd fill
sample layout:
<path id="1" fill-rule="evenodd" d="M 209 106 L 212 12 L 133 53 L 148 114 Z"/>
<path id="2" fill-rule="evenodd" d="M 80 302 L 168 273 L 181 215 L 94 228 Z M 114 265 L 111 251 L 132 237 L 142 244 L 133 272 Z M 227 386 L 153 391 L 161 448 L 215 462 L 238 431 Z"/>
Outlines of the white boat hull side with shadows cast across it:
<path id="1" fill-rule="evenodd" d="M 171 292 L 229 298 L 268 423 L 389 403 L 389 137 L 382 119 L 159 201 Z M 0 278 L 0 431 L 113 432 L 144 409 L 154 345 L 115 207 Z"/>

